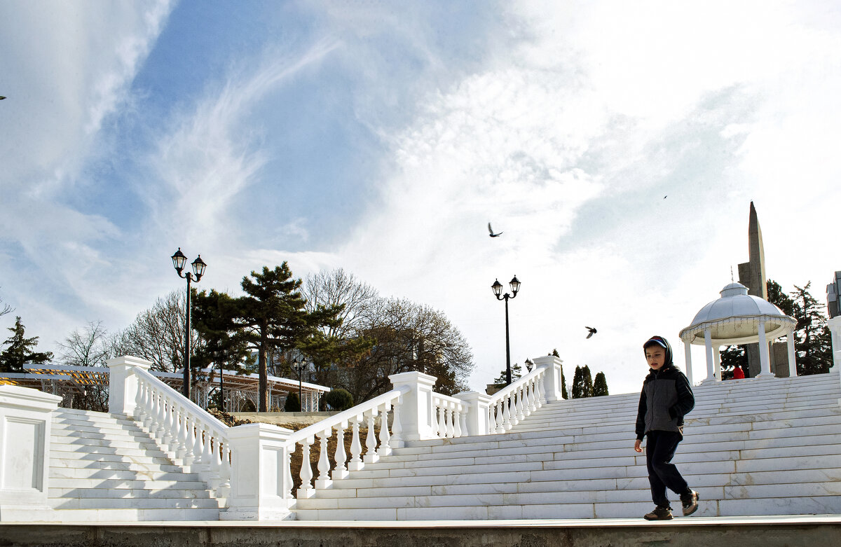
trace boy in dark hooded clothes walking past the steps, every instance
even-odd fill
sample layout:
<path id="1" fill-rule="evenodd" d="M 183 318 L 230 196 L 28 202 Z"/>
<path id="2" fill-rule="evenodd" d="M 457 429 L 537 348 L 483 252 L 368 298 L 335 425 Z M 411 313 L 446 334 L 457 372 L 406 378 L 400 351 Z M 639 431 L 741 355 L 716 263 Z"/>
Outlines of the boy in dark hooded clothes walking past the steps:
<path id="1" fill-rule="evenodd" d="M 643 392 L 639 396 L 637 411 L 637 442 L 633 450 L 642 452 L 643 437 L 645 462 L 648 466 L 648 482 L 651 484 L 651 498 L 657 505 L 646 520 L 670 520 L 672 508 L 666 488 L 680 495 L 684 516 L 698 510 L 698 492 L 692 490 L 671 463 L 674 450 L 683 440 L 683 417 L 695 408 L 692 387 L 672 362 L 672 346 L 662 336 L 652 336 L 643 344 L 645 358 L 651 371 L 643 381 Z"/>

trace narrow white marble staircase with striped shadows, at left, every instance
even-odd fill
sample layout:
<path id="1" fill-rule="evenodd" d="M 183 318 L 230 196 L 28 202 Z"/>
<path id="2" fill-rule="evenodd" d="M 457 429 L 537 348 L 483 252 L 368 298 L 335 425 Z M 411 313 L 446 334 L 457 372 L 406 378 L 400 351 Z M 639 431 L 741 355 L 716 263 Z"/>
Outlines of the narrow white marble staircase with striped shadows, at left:
<path id="1" fill-rule="evenodd" d="M 58 408 L 50 439 L 50 520 L 218 520 L 220 502 L 121 414 Z"/>

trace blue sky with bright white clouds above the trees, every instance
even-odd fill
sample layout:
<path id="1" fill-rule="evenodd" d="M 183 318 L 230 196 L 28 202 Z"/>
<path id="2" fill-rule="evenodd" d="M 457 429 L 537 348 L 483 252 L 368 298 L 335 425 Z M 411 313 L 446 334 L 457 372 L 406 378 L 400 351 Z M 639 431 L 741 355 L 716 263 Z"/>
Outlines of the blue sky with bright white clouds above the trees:
<path id="1" fill-rule="evenodd" d="M 446 313 L 479 388 L 516 274 L 512 360 L 636 391 L 751 200 L 768 275 L 824 298 L 839 51 L 832 2 L 0 3 L 0 297 L 50 349 L 180 288 L 179 246 L 231 292 L 343 267 Z"/>

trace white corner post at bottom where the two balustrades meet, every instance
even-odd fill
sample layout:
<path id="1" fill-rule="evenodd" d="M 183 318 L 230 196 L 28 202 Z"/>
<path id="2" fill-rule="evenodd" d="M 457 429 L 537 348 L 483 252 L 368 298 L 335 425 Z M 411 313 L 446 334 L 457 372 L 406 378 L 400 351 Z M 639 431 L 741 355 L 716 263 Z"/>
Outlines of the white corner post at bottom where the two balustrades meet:
<path id="1" fill-rule="evenodd" d="M 228 509 L 220 520 L 283 520 L 292 518 L 291 429 L 249 423 L 228 429 L 230 467 Z"/>

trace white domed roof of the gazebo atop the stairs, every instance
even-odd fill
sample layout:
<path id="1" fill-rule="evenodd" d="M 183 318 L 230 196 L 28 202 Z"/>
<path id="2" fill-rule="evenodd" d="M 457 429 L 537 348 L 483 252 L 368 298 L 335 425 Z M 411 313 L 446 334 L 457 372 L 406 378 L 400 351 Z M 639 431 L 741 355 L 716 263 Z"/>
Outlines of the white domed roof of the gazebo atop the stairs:
<path id="1" fill-rule="evenodd" d="M 696 313 L 690 326 L 680 331 L 680 338 L 692 334 L 691 343 L 703 344 L 704 329 L 710 327 L 711 339 L 722 344 L 748 343 L 758 338 L 760 320 L 765 322 L 765 334 L 770 339 L 786 334 L 786 326 L 796 323 L 771 302 L 748 294 L 748 287 L 742 283 L 730 283 L 720 294 Z"/>

